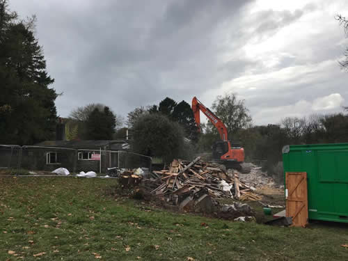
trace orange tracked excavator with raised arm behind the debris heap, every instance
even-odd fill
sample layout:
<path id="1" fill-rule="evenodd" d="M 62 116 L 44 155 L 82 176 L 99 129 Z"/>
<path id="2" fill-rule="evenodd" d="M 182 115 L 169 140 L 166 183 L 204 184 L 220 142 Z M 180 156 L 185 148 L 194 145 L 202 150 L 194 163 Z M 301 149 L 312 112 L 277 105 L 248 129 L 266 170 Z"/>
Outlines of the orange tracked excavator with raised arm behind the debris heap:
<path id="1" fill-rule="evenodd" d="M 241 169 L 240 164 L 244 161 L 244 148 L 240 145 L 233 145 L 228 141 L 227 128 L 219 117 L 204 106 L 196 97 L 192 99 L 192 111 L 198 132 L 200 132 L 200 111 L 202 111 L 220 134 L 221 141 L 216 141 L 212 146 L 214 161 L 224 164 L 228 168 Z"/>

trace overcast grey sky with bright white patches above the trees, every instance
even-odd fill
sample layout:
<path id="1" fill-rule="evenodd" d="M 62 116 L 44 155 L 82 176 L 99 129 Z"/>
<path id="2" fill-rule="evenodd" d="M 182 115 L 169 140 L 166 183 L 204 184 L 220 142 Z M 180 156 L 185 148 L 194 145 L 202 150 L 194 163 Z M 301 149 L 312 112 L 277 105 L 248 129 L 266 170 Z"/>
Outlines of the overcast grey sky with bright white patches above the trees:
<path id="1" fill-rule="evenodd" d="M 347 0 L 10 0 L 35 14 L 58 115 L 100 102 L 127 116 L 165 97 L 237 93 L 255 125 L 348 105 Z"/>

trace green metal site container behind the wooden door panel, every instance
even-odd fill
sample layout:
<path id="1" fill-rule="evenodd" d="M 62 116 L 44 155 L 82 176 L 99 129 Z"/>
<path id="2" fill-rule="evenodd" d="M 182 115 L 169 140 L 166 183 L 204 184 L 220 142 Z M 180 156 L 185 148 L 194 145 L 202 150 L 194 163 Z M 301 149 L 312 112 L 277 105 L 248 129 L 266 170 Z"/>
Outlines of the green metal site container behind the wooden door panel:
<path id="1" fill-rule="evenodd" d="M 348 143 L 285 145 L 283 168 L 307 173 L 309 219 L 348 223 Z"/>

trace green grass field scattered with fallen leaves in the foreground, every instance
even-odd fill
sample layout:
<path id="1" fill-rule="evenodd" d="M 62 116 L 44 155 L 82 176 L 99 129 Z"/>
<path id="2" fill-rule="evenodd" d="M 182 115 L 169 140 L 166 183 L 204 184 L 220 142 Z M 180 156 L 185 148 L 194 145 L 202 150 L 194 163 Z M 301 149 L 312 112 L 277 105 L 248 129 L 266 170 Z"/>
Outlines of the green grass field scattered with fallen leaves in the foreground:
<path id="1" fill-rule="evenodd" d="M 0 177 L 0 260 L 348 260 L 347 224 L 278 228 L 177 214 L 117 198 L 115 184 Z"/>

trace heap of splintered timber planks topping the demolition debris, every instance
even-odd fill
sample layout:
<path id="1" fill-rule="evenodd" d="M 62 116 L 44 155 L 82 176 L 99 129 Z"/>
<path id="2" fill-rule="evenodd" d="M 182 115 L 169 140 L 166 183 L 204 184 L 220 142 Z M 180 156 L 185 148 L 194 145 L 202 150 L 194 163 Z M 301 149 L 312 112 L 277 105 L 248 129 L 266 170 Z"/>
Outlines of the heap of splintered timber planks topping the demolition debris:
<path id="1" fill-rule="evenodd" d="M 177 203 L 179 196 L 185 193 L 197 193 L 205 189 L 213 198 L 240 198 L 241 194 L 250 193 L 255 188 L 239 181 L 239 173 L 229 170 L 228 173 L 219 168 L 219 164 L 200 161 L 174 159 L 168 170 L 153 171 L 147 182 L 151 193 L 166 196 Z M 176 204 L 175 204 L 176 205 Z"/>

